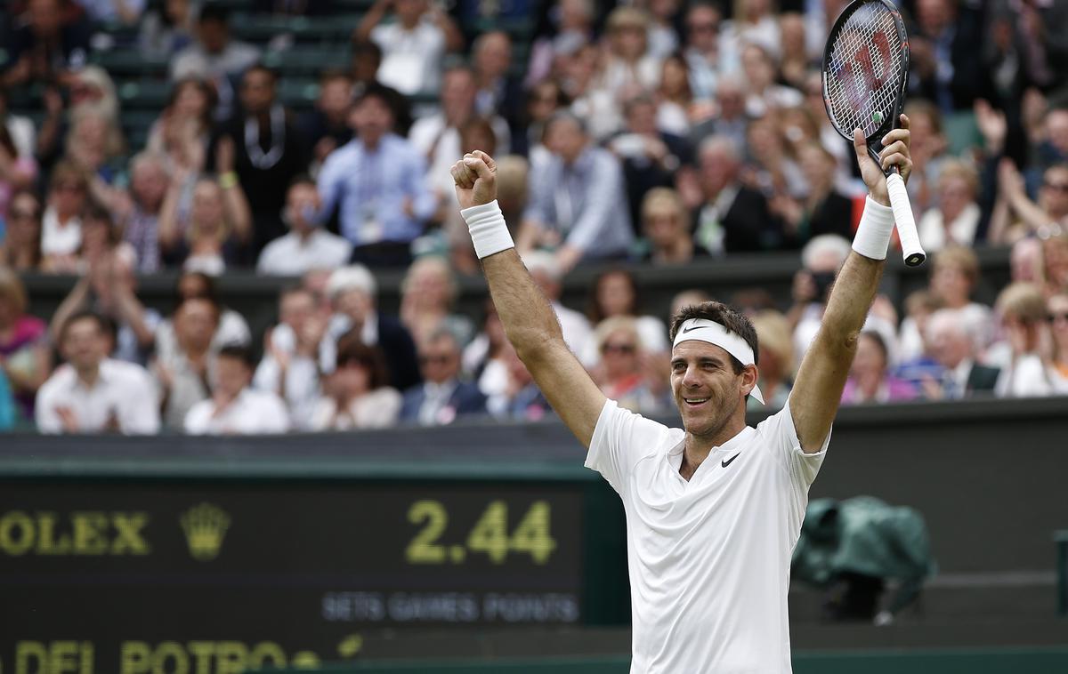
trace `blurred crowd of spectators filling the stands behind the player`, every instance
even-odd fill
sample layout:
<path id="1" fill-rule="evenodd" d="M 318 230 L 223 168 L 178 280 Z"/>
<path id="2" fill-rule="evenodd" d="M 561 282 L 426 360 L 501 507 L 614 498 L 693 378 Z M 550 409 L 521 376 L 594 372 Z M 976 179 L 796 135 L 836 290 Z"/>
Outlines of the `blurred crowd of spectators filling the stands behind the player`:
<path id="1" fill-rule="evenodd" d="M 843 402 L 1068 392 L 1068 5 L 902 0 L 926 290 L 879 298 Z M 665 322 L 634 264 L 799 252 L 789 306 L 753 318 L 772 407 L 820 324 L 863 208 L 820 58 L 841 0 L 10 0 L 0 30 L 0 428 L 257 433 L 551 415 L 478 273 L 447 167 L 498 158 L 501 208 L 565 339 L 607 395 L 673 407 Z M 287 21 L 351 17 L 347 68 L 284 105 Z M 234 14 L 234 9 L 247 14 Z M 236 18 L 235 18 L 236 17 Z M 270 17 L 269 39 L 235 20 Z M 348 31 L 348 28 L 345 29 Z M 125 44 L 119 44 L 122 41 Z M 166 60 L 169 98 L 124 134 L 116 48 Z M 269 65 L 269 64 L 276 65 Z M 29 101 L 29 102 L 27 102 Z M 16 105 L 17 103 L 17 105 Z M 1011 284 L 973 299 L 975 248 Z M 578 266 L 604 271 L 584 311 Z M 216 278 L 286 276 L 253 334 Z M 404 272 L 399 312 L 378 274 Z M 139 276 L 179 273 L 169 315 Z M 26 273 L 76 277 L 45 321 Z M 680 289 L 682 290 L 682 289 Z"/>

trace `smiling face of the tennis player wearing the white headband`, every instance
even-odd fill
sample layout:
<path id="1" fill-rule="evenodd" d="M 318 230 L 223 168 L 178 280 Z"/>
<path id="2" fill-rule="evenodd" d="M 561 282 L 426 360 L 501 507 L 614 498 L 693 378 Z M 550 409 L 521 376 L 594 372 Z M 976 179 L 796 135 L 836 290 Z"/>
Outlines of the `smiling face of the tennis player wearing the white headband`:
<path id="1" fill-rule="evenodd" d="M 682 426 L 696 436 L 714 435 L 742 404 L 742 379 L 731 354 L 691 339 L 672 349 L 671 387 Z"/>

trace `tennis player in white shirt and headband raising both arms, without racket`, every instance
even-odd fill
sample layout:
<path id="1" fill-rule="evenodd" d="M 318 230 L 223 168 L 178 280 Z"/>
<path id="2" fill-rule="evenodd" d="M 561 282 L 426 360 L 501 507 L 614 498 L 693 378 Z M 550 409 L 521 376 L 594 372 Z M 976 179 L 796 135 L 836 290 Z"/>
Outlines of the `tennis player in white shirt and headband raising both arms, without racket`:
<path id="1" fill-rule="evenodd" d="M 608 400 L 568 351 L 549 303 L 512 243 L 485 153 L 453 168 L 456 193 L 508 339 L 541 391 L 588 448 L 585 465 L 627 514 L 632 673 L 786 674 L 790 555 L 823 462 L 857 339 L 893 230 L 882 171 L 854 134 L 868 198 L 819 335 L 786 406 L 756 428 L 753 325 L 719 302 L 672 320 L 671 385 L 685 430 Z M 880 155 L 907 178 L 908 119 Z M 763 400 L 761 400 L 763 402 Z"/>

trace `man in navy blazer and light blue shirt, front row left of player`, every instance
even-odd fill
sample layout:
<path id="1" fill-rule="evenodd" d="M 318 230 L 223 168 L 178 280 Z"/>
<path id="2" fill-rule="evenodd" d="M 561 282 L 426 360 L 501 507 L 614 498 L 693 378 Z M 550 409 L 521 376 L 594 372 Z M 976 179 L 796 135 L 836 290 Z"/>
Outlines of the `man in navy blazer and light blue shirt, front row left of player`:
<path id="1" fill-rule="evenodd" d="M 459 379 L 460 347 L 449 330 L 439 330 L 420 347 L 419 362 L 423 383 L 405 391 L 402 420 L 445 426 L 458 417 L 485 414 L 486 396 Z"/>

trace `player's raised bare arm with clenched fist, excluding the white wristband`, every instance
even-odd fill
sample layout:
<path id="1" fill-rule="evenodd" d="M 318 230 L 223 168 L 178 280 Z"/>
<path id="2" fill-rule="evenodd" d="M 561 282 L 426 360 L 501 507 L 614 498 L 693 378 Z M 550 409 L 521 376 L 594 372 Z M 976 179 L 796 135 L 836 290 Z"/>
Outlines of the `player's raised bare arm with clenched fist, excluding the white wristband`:
<path id="1" fill-rule="evenodd" d="M 496 172 L 497 164 L 482 151 L 467 155 L 456 162 L 452 173 L 461 208 L 494 202 Z M 469 223 L 472 222 L 470 211 L 465 215 Z M 497 224 L 504 226 L 503 222 Z M 478 247 L 476 241 L 476 252 Z M 604 394 L 564 343 L 555 312 L 523 267 L 516 248 L 508 245 L 497 253 L 484 255 L 482 264 L 508 340 L 549 404 L 588 448 L 597 418 L 604 406 Z"/>

